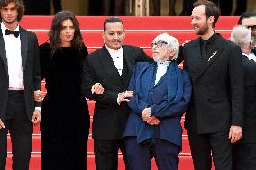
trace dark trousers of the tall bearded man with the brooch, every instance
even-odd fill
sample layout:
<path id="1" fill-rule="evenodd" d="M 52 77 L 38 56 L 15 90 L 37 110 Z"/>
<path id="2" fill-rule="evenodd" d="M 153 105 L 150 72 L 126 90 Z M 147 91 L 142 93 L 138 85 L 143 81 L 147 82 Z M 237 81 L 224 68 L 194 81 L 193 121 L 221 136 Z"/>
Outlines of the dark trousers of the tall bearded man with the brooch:
<path id="1" fill-rule="evenodd" d="M 232 145 L 228 132 L 197 134 L 188 130 L 188 139 L 195 170 L 211 170 L 212 156 L 215 170 L 232 169 Z"/>

